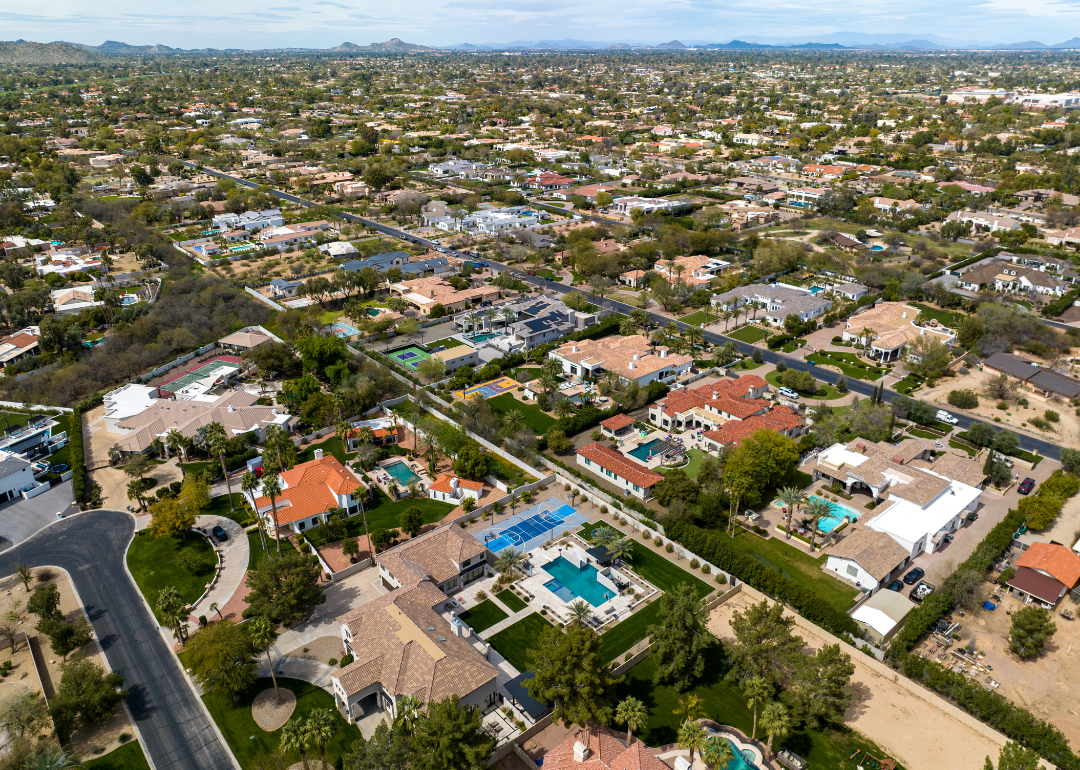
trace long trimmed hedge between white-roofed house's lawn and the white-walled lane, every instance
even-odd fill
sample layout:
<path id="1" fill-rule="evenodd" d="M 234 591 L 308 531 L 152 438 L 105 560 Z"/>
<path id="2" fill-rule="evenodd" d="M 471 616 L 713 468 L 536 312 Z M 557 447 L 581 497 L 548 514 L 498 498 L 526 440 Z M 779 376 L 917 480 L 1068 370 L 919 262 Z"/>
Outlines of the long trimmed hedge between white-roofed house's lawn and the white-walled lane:
<path id="1" fill-rule="evenodd" d="M 774 569 L 747 556 L 718 536 L 701 529 L 689 522 L 664 523 L 664 535 L 693 552 L 706 562 L 716 565 L 758 591 L 789 605 L 809 620 L 838 636 L 854 635 L 859 631 L 855 621 L 841 612 L 812 591 L 788 580 Z"/>

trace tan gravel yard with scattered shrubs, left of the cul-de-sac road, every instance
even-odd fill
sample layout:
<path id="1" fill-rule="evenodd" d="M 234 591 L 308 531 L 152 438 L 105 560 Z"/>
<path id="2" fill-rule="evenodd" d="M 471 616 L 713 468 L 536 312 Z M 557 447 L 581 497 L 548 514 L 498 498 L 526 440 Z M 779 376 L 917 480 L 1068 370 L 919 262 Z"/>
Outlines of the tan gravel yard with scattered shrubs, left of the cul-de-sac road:
<path id="1" fill-rule="evenodd" d="M 35 569 L 33 577 L 35 580 L 30 583 L 31 593 L 38 585 L 50 582 L 56 583 L 56 587 L 60 592 L 59 609 L 64 613 L 64 617 L 69 621 L 82 617 L 82 610 L 76 599 L 71 581 L 68 580 L 64 572 L 45 567 Z M 21 603 L 18 606 L 23 620 L 19 630 L 26 631 L 30 636 L 30 644 L 36 646 L 44 661 L 44 675 L 41 685 L 45 694 L 52 697 L 60 684 L 60 663 L 63 659 L 53 652 L 48 637 L 37 636 L 33 626 L 37 624 L 38 618 L 37 616 L 26 613 L 27 598 L 28 594 L 15 576 L 9 576 L 0 580 L 0 617 L 5 616 L 14 608 L 16 603 Z M 3 685 L 0 685 L 0 688 L 2 688 L 0 689 L 0 708 L 3 707 L 3 698 L 6 694 L 5 691 L 9 689 L 16 691 L 17 694 L 31 690 L 40 691 L 38 688 L 38 678 L 33 672 L 33 662 L 26 645 L 18 647 L 14 656 L 9 654 L 10 649 L 10 647 L 5 646 L 3 651 L 0 651 L 0 662 L 11 660 L 15 666 L 14 671 L 3 681 Z M 82 649 L 82 653 L 102 667 L 106 667 L 102 659 L 102 650 L 97 646 L 96 640 L 86 645 Z M 123 707 L 119 707 L 108 721 L 95 726 L 92 730 L 82 730 L 76 733 L 71 741 L 71 746 L 77 756 L 90 758 L 97 754 L 111 752 L 113 748 L 120 746 L 119 738 L 124 733 L 131 739 L 134 737 L 135 730 L 127 718 L 127 712 Z"/>

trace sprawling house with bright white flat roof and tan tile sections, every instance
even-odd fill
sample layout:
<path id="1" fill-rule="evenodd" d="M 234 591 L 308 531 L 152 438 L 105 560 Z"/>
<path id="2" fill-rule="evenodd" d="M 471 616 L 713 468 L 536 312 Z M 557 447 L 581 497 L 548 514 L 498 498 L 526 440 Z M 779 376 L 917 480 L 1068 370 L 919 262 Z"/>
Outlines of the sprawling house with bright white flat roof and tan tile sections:
<path id="1" fill-rule="evenodd" d="M 895 446 L 856 438 L 828 447 L 811 467 L 815 481 L 836 482 L 849 492 L 868 491 L 878 506 L 863 524 L 889 535 L 915 558 L 933 553 L 945 535 L 960 528 L 978 508 L 986 481 L 981 467 L 967 457 L 932 457 L 931 445 L 919 438 Z"/>

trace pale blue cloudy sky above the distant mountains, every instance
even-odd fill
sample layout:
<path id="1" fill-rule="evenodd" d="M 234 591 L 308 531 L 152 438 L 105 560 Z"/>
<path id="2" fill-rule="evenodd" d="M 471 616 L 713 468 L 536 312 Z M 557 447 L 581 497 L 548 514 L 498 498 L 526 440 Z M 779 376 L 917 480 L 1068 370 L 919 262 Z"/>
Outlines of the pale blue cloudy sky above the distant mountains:
<path id="1" fill-rule="evenodd" d="M 1080 36 L 1080 0 L 0 0 L 8 40 L 174 48 L 332 48 L 576 39 L 654 44 L 843 42 L 905 32 L 960 43 Z"/>

